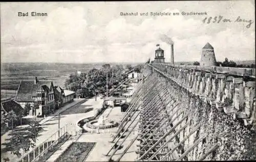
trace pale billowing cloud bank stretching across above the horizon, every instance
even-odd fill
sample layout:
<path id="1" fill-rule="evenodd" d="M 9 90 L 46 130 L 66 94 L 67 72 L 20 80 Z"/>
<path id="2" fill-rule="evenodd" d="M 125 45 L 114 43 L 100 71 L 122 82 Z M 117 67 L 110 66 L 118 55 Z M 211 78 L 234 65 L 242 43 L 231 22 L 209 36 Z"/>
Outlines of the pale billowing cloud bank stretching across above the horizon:
<path id="1" fill-rule="evenodd" d="M 181 11 L 165 9 L 162 12 Z M 255 59 L 254 24 L 250 29 L 241 23 L 204 24 L 200 18 L 180 15 L 145 17 L 137 24 L 118 17 L 100 25 L 90 24 L 85 14 L 87 11 L 80 6 L 58 7 L 46 18 L 19 20 L 13 29 L 5 29 L 1 38 L 3 60 L 145 62 L 155 57 L 155 45 L 160 43 L 168 62 L 170 46 L 160 40 L 161 34 L 174 41 L 175 61 L 200 61 L 202 47 L 207 42 L 214 46 L 219 61 L 225 57 Z"/>

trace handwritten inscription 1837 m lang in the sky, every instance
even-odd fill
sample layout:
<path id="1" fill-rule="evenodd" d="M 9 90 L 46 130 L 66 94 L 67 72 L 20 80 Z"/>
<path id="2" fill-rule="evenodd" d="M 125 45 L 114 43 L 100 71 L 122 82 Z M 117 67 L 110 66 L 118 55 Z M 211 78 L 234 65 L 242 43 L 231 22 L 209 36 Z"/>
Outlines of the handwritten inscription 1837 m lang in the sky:
<path id="1" fill-rule="evenodd" d="M 253 23 L 252 20 L 246 20 L 238 16 L 235 20 L 230 20 L 228 18 L 224 18 L 223 16 L 215 16 L 215 17 L 205 17 L 203 19 L 203 23 L 220 23 L 220 22 L 236 22 L 236 23 L 246 23 L 246 28 L 250 28 Z"/>

